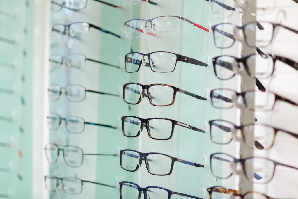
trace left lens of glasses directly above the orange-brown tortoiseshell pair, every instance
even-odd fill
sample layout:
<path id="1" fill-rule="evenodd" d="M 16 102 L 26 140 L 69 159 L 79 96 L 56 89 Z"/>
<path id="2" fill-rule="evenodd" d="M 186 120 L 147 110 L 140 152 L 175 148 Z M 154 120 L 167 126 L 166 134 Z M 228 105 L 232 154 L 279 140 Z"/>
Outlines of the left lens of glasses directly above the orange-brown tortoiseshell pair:
<path id="1" fill-rule="evenodd" d="M 231 162 L 234 161 L 234 158 L 222 153 L 213 154 L 210 158 L 211 171 L 215 177 L 223 179 L 229 178 L 232 175 Z"/>

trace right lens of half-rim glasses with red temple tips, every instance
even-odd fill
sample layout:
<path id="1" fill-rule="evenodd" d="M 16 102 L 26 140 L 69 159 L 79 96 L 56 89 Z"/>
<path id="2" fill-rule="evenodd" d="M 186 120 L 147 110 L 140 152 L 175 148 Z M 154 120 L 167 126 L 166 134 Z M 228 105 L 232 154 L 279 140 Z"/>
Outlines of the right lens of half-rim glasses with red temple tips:
<path id="1" fill-rule="evenodd" d="M 153 32 L 156 35 L 174 35 L 177 32 L 179 18 L 177 17 L 158 17 L 151 21 Z"/>

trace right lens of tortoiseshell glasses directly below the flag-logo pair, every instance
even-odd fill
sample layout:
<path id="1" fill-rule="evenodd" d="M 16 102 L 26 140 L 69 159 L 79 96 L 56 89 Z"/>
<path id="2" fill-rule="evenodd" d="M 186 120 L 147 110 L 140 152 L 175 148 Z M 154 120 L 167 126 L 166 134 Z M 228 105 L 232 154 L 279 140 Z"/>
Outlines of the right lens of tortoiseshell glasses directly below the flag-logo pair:
<path id="1" fill-rule="evenodd" d="M 151 101 L 156 106 L 167 106 L 172 104 L 174 89 L 167 85 L 154 85 L 149 88 Z"/>

